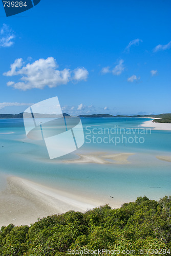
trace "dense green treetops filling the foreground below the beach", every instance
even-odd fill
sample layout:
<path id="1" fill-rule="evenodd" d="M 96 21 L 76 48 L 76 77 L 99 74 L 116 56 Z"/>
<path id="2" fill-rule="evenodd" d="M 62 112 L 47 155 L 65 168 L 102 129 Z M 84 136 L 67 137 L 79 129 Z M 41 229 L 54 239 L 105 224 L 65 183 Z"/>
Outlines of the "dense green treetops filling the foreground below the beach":
<path id="1" fill-rule="evenodd" d="M 135 250 L 129 255 L 139 255 L 138 249 L 143 248 L 156 249 L 157 253 L 151 255 L 170 255 L 171 251 L 164 253 L 170 247 L 171 197 L 159 202 L 139 197 L 119 209 L 105 205 L 84 214 L 69 211 L 38 219 L 30 227 L 3 226 L 0 232 L 2 256 L 57 256 L 69 255 L 68 249 L 78 254 L 77 250 L 103 248 L 117 249 L 117 255 L 124 255 L 123 250 Z"/>

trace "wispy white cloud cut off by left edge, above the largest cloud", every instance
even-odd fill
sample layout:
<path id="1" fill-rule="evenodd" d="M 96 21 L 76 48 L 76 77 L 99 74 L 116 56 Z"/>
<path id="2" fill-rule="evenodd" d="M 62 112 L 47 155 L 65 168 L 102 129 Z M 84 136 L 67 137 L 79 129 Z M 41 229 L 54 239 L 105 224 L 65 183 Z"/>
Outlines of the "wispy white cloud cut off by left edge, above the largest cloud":
<path id="1" fill-rule="evenodd" d="M 15 38 L 14 32 L 6 24 L 3 24 L 0 30 L 0 47 L 12 46 L 14 44 L 13 39 Z"/>

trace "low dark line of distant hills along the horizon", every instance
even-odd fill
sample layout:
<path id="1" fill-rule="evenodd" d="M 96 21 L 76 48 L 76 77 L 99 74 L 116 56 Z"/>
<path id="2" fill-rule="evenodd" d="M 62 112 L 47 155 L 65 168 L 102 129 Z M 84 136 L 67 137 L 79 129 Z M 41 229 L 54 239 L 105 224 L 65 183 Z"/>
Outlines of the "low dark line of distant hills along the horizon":
<path id="1" fill-rule="evenodd" d="M 63 113 L 63 116 L 70 116 L 67 113 Z M 158 123 L 171 123 L 171 113 L 166 113 L 166 114 L 158 114 L 158 115 L 117 115 L 113 116 L 110 114 L 92 114 L 92 115 L 79 115 L 78 117 L 81 118 L 96 118 L 96 117 L 152 117 L 155 120 L 153 122 L 158 122 Z M 0 118 L 23 118 L 23 113 L 19 114 L 0 114 Z M 160 118 L 160 119 L 156 119 Z"/>

